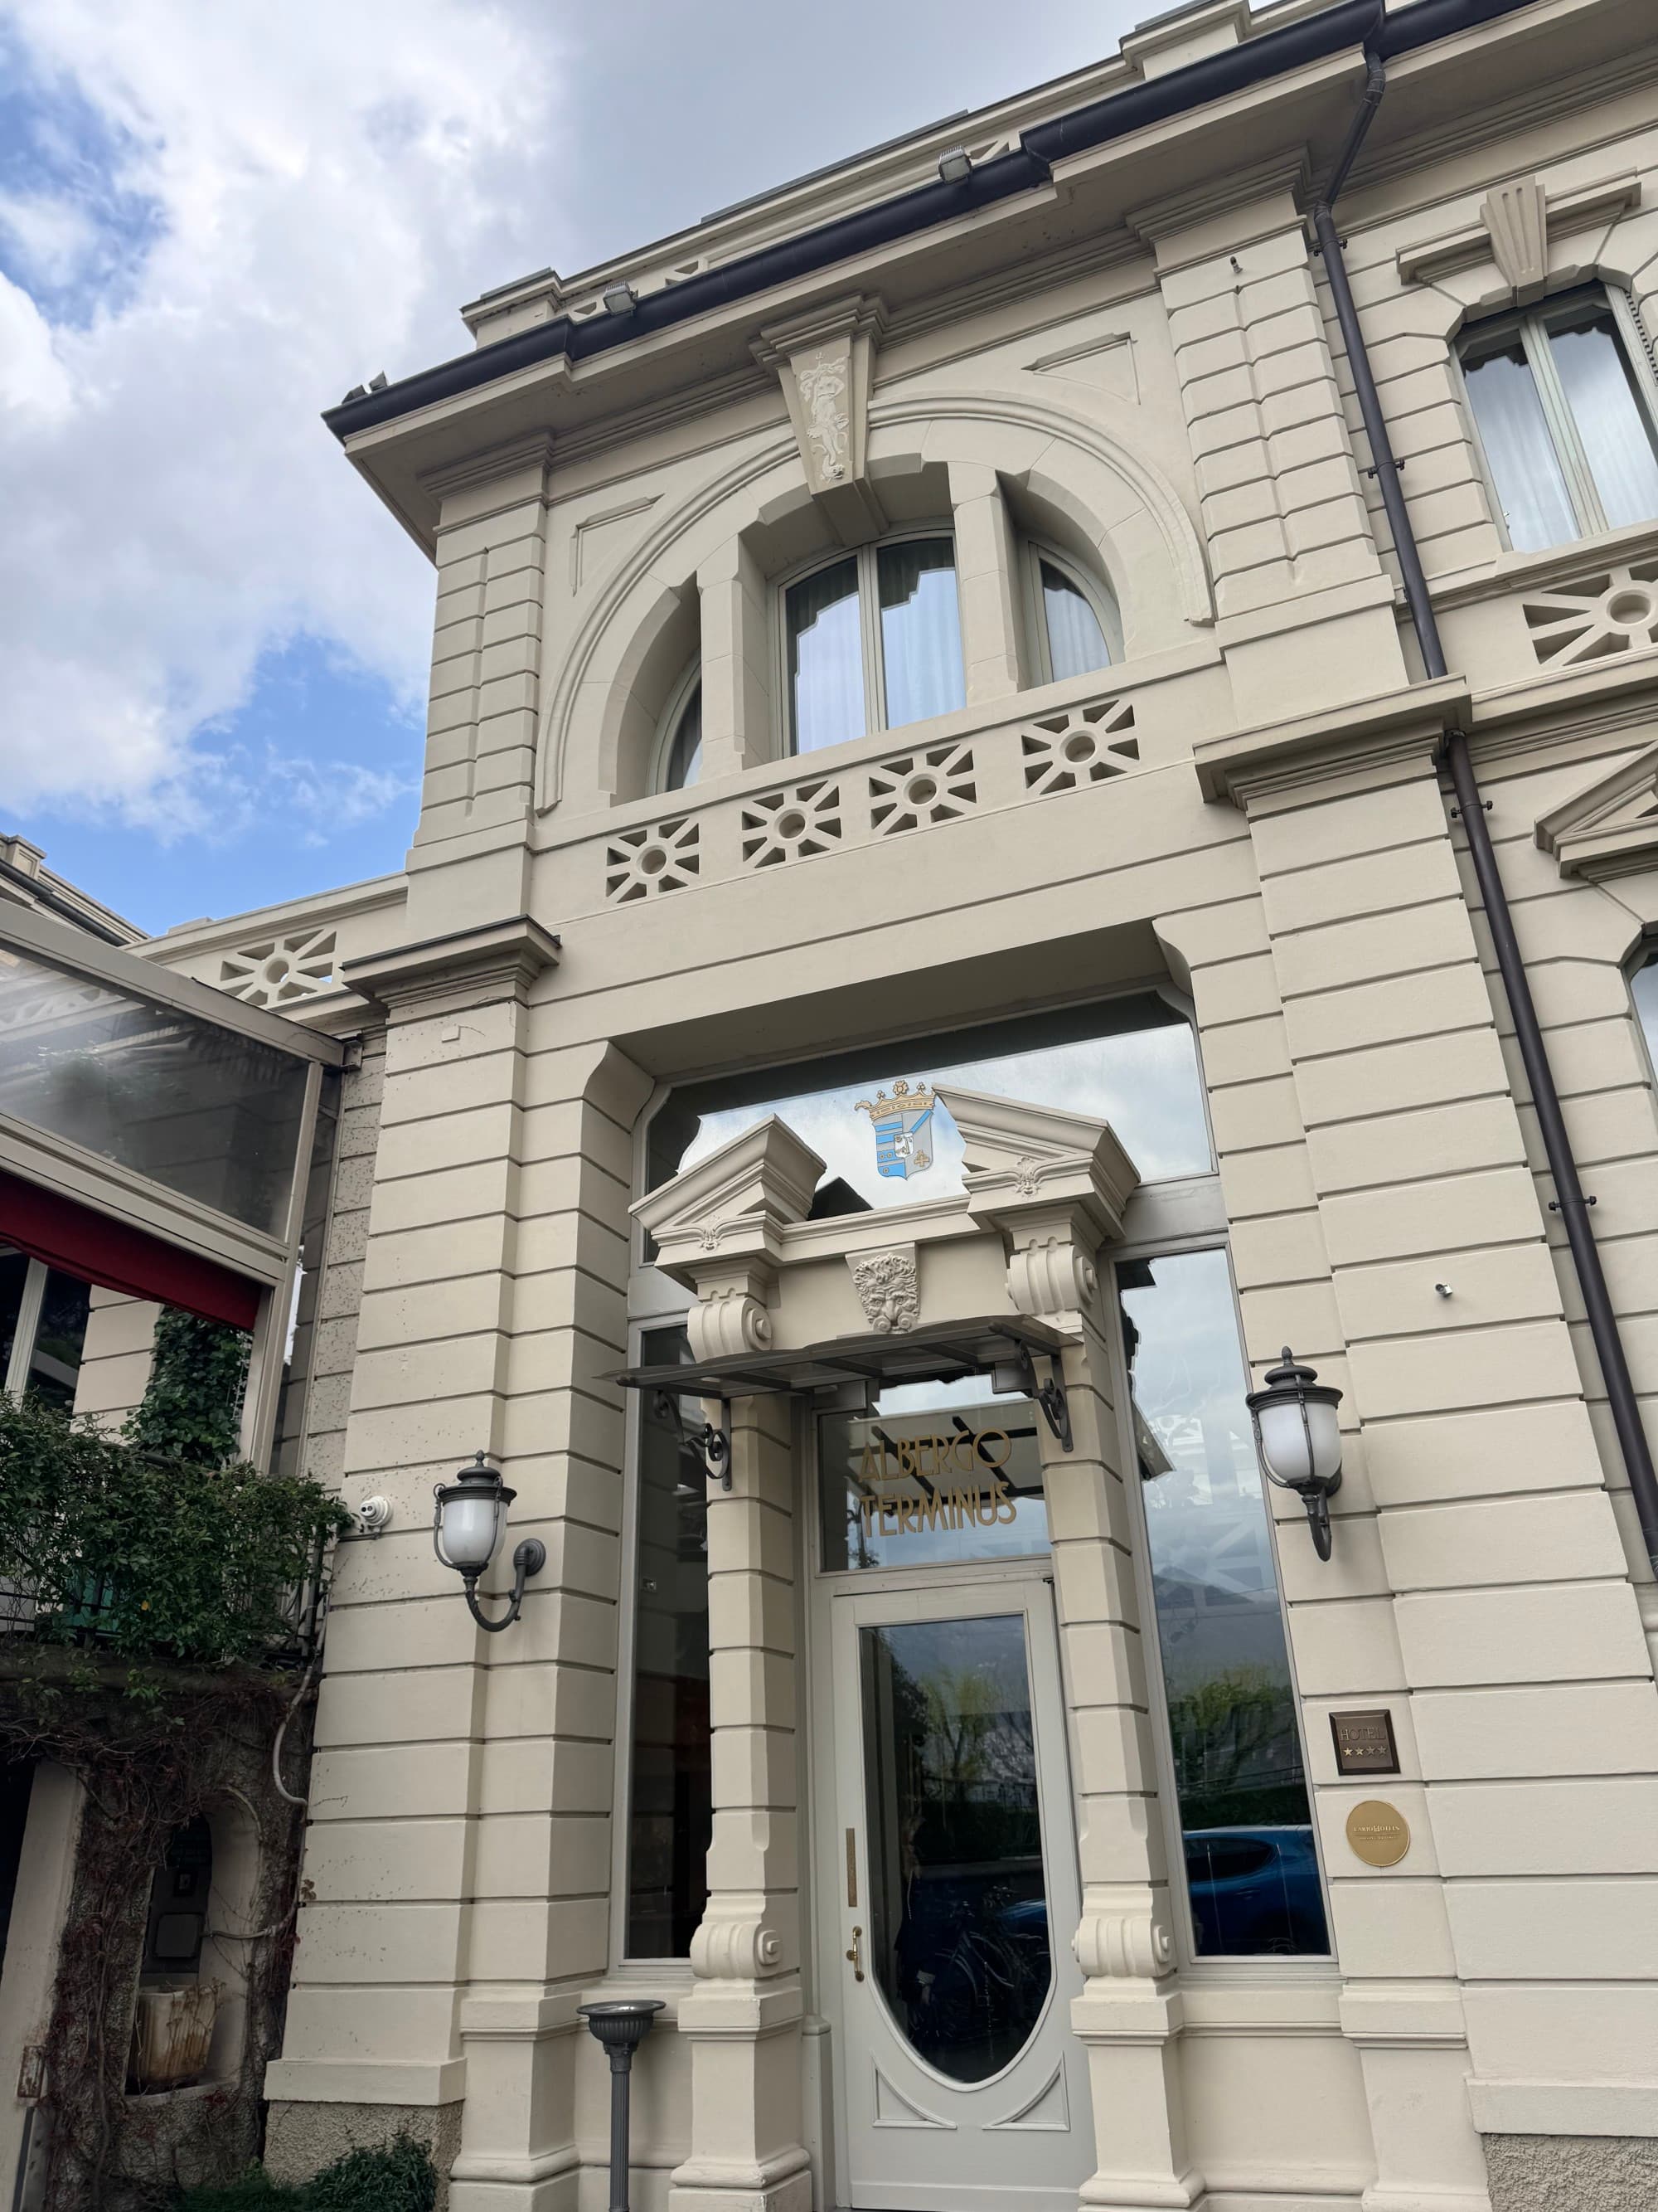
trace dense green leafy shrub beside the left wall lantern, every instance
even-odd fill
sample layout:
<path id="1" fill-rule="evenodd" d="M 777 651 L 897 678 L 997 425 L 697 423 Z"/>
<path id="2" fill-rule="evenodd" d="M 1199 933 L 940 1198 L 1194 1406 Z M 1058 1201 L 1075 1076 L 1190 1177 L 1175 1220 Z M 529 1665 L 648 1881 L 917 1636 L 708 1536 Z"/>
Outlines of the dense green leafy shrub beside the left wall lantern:
<path id="1" fill-rule="evenodd" d="M 157 1458 L 0 1391 L 0 1579 L 46 1641 L 122 1659 L 256 1663 L 349 1513 L 316 1482 Z"/>

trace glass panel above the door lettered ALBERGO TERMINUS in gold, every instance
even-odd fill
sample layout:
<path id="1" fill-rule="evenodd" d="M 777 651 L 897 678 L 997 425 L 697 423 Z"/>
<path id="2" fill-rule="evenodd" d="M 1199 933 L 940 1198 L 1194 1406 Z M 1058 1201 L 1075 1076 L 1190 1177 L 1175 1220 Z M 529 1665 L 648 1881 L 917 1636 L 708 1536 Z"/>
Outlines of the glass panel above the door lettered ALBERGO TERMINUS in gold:
<path id="1" fill-rule="evenodd" d="M 822 1413 L 818 1473 L 825 1573 L 1048 1551 L 1037 1409 L 979 1378 L 898 1385 L 867 1418 Z"/>

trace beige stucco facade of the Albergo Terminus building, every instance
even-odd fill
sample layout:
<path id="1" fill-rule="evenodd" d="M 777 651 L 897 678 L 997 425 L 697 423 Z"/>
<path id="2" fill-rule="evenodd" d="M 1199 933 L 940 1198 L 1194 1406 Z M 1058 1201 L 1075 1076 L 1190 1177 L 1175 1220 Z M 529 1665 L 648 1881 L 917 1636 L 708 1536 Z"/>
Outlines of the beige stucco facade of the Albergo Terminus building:
<path id="1" fill-rule="evenodd" d="M 802 1416 L 734 1407 L 734 1486 L 707 1513 L 710 1905 L 683 1964 L 643 1966 L 617 1907 L 634 1411 L 608 1376 L 688 1298 L 703 1354 L 856 1336 L 847 1254 L 906 1243 L 922 1327 L 1006 1312 L 1068 1338 L 1072 1449 L 1043 1431 L 1043 1482 L 1081 2201 L 1649 2201 L 1658 1593 L 1437 752 L 1470 732 L 1651 1394 L 1658 1119 L 1629 967 L 1658 927 L 1658 522 L 1512 551 L 1455 343 L 1585 283 L 1658 312 L 1658 44 L 1623 0 L 1530 0 L 1479 24 L 1444 9 L 1391 62 L 1340 221 L 1455 670 L 1426 684 L 1304 223 L 1364 77 L 1357 29 L 1240 88 L 1183 75 L 1318 13 L 1209 0 L 966 126 L 584 283 L 493 294 L 469 310 L 480 347 L 559 316 L 577 336 L 338 418 L 436 562 L 407 874 L 150 947 L 367 1037 L 287 1449 L 391 1520 L 343 1546 L 329 1613 L 267 2079 L 290 2168 L 416 2110 L 458 2146 L 455 2212 L 592 2212 L 608 2075 L 577 2004 L 661 1995 L 634 2201 L 849 2201 L 860 2059 L 822 1732 L 851 1692 L 814 1641 Z M 1161 82 L 1198 93 L 1026 190 L 643 316 L 699 270 L 928 186 L 957 139 L 995 164 L 1037 122 Z M 584 352 L 588 323 L 630 312 L 601 305 L 619 281 L 646 327 Z M 780 584 L 913 524 L 955 540 L 964 706 L 791 757 Z M 1112 595 L 1110 668 L 1039 681 L 1026 542 Z M 694 659 L 701 779 L 663 792 Z M 1196 1026 L 1211 1177 L 1136 1177 L 1110 1135 L 1030 1124 L 1012 1150 L 968 1130 L 966 1192 L 902 1228 L 805 1219 L 772 1152 L 714 1212 L 699 1170 L 646 1197 L 674 1084 L 878 1040 L 906 1073 L 933 1031 L 1145 989 Z M 1121 1250 L 1200 1237 L 1229 1248 L 1253 1378 L 1291 1343 L 1344 1391 L 1329 1562 L 1273 1493 L 1322 1960 L 1194 1960 L 1174 1905 L 1103 1285 Z M 478 1449 L 517 1491 L 513 1535 L 548 1548 L 502 1637 L 429 1537 L 431 1484 Z M 1397 1776 L 1337 1776 L 1349 1708 L 1388 1710 Z M 1410 1829 L 1388 1869 L 1346 1840 L 1373 1796 Z"/>

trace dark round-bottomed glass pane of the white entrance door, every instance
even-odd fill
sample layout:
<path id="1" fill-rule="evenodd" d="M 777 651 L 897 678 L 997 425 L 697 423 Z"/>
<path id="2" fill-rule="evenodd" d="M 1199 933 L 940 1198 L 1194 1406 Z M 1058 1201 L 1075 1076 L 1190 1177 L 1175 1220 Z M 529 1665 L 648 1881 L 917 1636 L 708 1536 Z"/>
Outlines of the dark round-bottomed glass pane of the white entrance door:
<path id="1" fill-rule="evenodd" d="M 1052 1962 L 1019 1615 L 860 1628 L 869 1960 L 913 2048 L 1001 2073 Z"/>

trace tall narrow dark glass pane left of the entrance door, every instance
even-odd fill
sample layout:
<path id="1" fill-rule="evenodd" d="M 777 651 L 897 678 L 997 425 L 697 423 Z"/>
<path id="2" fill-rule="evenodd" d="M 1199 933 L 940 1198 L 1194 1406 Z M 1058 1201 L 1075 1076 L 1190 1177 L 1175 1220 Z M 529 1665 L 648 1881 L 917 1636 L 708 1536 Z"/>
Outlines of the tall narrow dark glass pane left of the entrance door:
<path id="1" fill-rule="evenodd" d="M 688 1360 L 683 1327 L 648 1329 L 643 1365 Z M 683 1400 L 688 1431 L 701 1405 Z M 707 1478 L 648 1394 L 639 1402 L 628 1958 L 688 1958 L 707 1905 L 714 1790 L 707 1728 Z"/>

